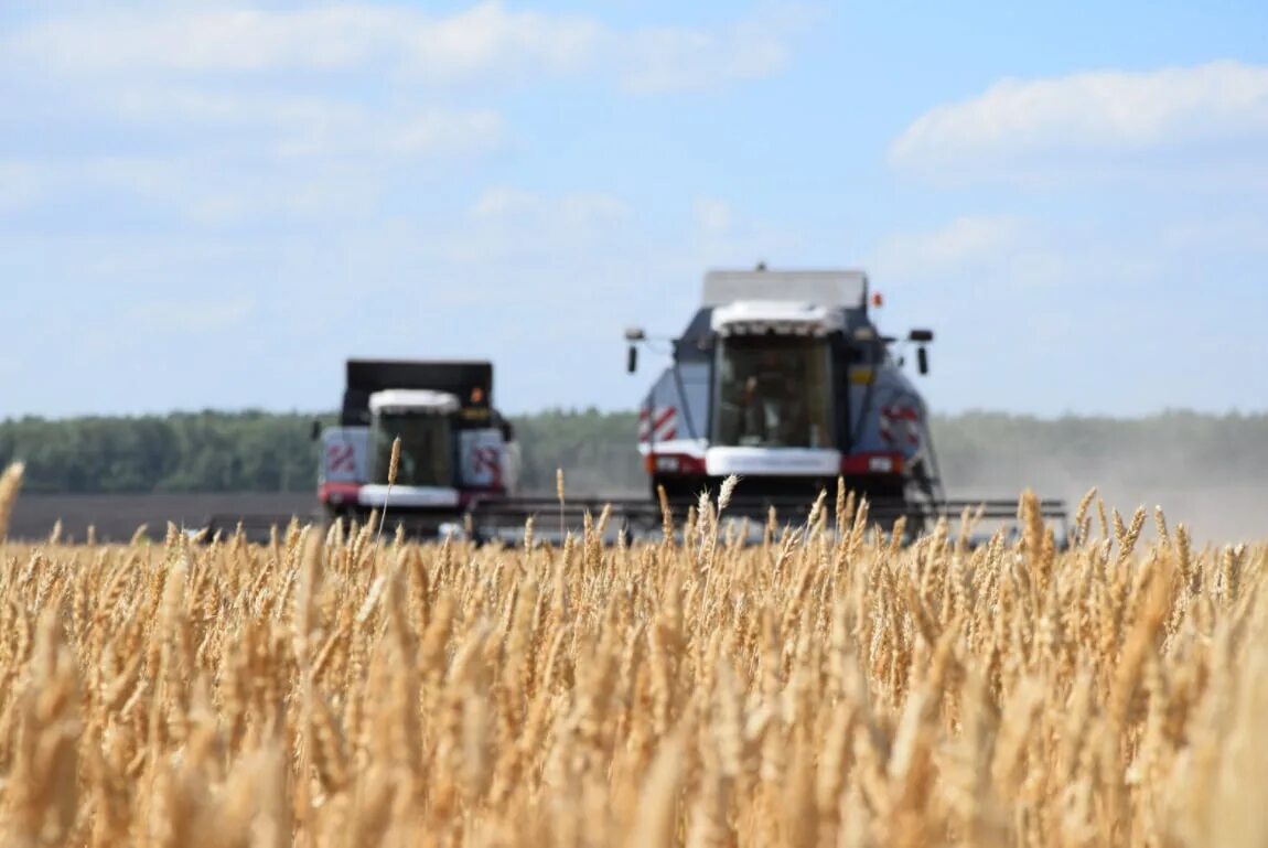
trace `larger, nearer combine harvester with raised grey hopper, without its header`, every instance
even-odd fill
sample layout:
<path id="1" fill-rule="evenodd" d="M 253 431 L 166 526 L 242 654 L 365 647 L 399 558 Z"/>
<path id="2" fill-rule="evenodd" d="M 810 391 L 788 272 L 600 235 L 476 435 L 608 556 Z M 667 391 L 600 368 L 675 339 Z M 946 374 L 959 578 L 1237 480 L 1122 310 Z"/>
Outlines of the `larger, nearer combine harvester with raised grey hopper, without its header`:
<path id="1" fill-rule="evenodd" d="M 933 332 L 884 336 L 876 305 L 862 271 L 706 274 L 639 411 L 653 494 L 687 504 L 738 474 L 733 511 L 762 515 L 834 493 L 842 478 L 881 524 L 905 516 L 918 531 L 945 512 L 928 412 L 896 350 L 914 345 L 926 374 Z M 648 336 L 635 328 L 626 340 L 633 371 Z"/>

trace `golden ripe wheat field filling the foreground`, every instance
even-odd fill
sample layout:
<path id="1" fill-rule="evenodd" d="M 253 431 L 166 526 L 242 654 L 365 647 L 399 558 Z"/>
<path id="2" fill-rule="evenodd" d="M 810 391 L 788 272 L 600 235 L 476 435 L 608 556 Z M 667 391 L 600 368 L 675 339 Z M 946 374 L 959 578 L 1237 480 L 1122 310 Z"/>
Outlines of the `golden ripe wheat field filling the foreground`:
<path id="1" fill-rule="evenodd" d="M 4 544 L 0 844 L 1268 844 L 1268 548 L 1023 518 Z"/>

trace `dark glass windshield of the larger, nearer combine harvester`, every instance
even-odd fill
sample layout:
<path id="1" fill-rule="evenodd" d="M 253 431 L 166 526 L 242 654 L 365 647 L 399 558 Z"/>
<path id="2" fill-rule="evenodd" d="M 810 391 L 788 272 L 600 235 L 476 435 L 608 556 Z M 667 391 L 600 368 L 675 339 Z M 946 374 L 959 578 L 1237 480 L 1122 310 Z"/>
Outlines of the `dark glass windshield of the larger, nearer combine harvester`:
<path id="1" fill-rule="evenodd" d="M 832 447 L 828 344 L 733 336 L 718 342 L 714 444 Z"/>

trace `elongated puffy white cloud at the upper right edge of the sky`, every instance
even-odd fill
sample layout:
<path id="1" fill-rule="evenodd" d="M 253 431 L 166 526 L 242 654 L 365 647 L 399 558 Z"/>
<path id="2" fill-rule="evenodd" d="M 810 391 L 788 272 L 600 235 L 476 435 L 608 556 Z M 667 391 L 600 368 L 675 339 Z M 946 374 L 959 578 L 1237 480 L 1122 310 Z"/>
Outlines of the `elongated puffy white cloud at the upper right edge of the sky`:
<path id="1" fill-rule="evenodd" d="M 1003 80 L 937 106 L 891 145 L 899 170 L 941 180 L 1140 175 L 1159 166 L 1268 169 L 1268 67 Z"/>

